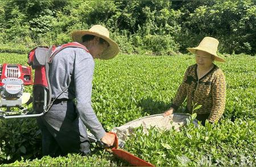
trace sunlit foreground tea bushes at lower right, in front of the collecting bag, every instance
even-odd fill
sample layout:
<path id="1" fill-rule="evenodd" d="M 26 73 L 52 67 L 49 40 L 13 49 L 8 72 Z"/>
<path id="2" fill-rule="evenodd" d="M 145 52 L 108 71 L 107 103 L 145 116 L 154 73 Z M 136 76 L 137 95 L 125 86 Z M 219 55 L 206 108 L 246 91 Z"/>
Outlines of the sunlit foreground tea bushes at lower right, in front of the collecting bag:
<path id="1" fill-rule="evenodd" d="M 144 135 L 138 128 L 125 149 L 156 166 L 253 166 L 255 126 L 254 120 L 237 119 L 199 128 L 189 124 L 180 132 L 151 128 Z"/>

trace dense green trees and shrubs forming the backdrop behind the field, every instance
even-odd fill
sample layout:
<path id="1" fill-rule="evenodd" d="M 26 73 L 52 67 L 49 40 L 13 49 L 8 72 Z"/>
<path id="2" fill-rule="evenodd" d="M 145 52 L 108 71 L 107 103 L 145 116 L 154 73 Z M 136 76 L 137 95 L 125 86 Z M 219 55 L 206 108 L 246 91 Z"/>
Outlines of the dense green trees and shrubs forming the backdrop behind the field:
<path id="1" fill-rule="evenodd" d="M 175 55 L 204 36 L 220 40 L 221 53 L 256 53 L 253 0 L 0 1 L 0 43 L 16 53 L 66 43 L 94 24 L 108 27 L 123 53 Z"/>

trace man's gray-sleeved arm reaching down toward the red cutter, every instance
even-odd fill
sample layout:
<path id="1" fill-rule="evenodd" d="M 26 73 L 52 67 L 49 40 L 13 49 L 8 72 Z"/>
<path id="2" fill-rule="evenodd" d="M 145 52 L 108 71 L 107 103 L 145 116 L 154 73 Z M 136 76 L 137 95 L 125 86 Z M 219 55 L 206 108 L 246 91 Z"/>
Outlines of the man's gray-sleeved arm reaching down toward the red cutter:
<path id="1" fill-rule="evenodd" d="M 76 107 L 80 118 L 97 139 L 102 139 L 106 132 L 91 106 L 94 60 L 83 49 L 77 49 L 74 65 Z"/>

